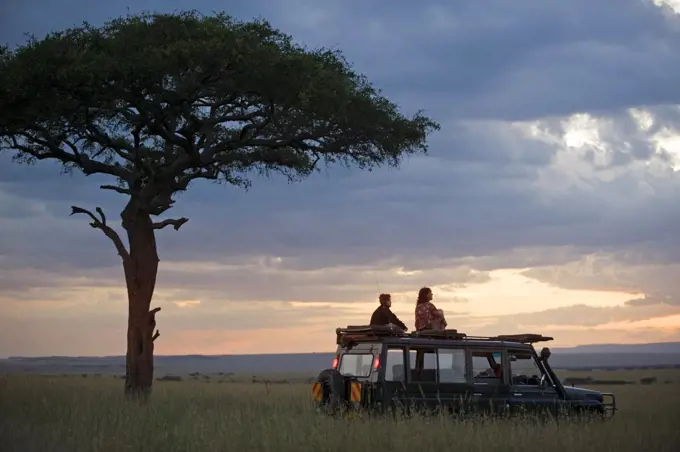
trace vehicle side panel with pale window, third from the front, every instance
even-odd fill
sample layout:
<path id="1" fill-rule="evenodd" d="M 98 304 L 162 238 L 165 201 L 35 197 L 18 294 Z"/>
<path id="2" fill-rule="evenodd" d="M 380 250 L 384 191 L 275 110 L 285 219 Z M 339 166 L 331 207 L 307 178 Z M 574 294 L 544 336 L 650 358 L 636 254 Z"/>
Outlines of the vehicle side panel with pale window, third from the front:
<path id="1" fill-rule="evenodd" d="M 466 411 L 472 396 L 464 348 L 437 349 L 437 381 L 441 403 L 453 413 Z"/>

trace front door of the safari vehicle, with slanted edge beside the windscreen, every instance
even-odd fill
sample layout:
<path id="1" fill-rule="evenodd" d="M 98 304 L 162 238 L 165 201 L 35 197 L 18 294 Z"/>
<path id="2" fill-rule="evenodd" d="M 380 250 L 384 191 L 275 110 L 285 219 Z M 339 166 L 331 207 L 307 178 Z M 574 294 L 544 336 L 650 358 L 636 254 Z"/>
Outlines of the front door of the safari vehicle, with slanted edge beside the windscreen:
<path id="1" fill-rule="evenodd" d="M 508 405 L 512 412 L 557 413 L 564 401 L 532 350 L 508 350 L 511 375 Z M 546 375 L 545 378 L 541 378 Z"/>

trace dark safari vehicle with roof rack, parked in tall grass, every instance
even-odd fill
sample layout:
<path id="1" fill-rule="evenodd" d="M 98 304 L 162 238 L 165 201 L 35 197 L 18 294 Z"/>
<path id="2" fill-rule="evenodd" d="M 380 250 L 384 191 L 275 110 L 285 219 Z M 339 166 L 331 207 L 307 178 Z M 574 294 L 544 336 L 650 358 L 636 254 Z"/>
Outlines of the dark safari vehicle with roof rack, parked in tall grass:
<path id="1" fill-rule="evenodd" d="M 336 329 L 332 368 L 312 395 L 323 411 L 399 409 L 517 414 L 548 411 L 611 417 L 614 394 L 564 386 L 540 334 L 474 337 L 457 330 L 405 333 L 393 326 Z"/>

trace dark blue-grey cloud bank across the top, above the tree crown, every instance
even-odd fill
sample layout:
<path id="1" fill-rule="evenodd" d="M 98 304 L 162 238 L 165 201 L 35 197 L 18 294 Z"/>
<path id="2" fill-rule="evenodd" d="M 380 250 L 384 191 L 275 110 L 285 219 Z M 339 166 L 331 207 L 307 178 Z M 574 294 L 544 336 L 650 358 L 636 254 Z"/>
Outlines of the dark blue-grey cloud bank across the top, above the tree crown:
<path id="1" fill-rule="evenodd" d="M 388 95 L 440 118 L 526 119 L 680 102 L 677 20 L 641 0 L 29 0 L 5 7 L 0 41 L 98 24 L 128 6 L 264 17 L 310 46 L 342 49 Z"/>

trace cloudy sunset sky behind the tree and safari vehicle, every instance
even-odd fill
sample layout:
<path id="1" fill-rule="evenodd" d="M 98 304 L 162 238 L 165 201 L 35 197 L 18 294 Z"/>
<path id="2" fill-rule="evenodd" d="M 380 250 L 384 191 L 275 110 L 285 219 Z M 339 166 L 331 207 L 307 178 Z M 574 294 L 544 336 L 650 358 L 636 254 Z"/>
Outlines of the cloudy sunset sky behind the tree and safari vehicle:
<path id="1" fill-rule="evenodd" d="M 553 346 L 680 340 L 680 11 L 660 0 L 9 0 L 0 42 L 130 12 L 266 18 L 342 50 L 407 115 L 441 124 L 399 169 L 196 184 L 159 231 L 157 354 L 322 352 L 381 292 L 411 328 Z M 0 155 L 0 356 L 120 355 L 105 179 Z M 108 181 L 110 183 L 110 181 Z M 119 228 L 120 231 L 120 228 Z"/>

